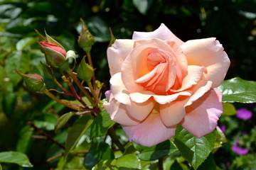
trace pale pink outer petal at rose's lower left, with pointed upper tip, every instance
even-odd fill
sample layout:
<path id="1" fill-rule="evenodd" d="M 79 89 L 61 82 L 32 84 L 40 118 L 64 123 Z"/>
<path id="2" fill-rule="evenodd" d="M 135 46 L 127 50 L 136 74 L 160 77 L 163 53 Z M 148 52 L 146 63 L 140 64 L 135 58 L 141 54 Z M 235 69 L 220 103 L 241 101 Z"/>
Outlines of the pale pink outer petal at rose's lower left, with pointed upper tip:
<path id="1" fill-rule="evenodd" d="M 127 113 L 126 106 L 110 94 L 110 103 L 103 104 L 107 113 L 110 114 L 110 118 L 121 125 L 138 125 L 139 121 L 132 118 L 129 113 Z"/>

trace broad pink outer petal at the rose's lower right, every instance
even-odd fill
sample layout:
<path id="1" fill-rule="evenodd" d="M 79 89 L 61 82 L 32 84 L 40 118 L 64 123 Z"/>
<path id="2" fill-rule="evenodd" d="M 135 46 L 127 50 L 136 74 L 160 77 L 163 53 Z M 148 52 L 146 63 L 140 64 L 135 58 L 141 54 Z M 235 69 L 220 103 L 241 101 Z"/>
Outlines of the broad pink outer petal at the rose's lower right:
<path id="1" fill-rule="evenodd" d="M 221 98 L 222 94 L 218 89 L 208 91 L 191 106 L 186 107 L 181 126 L 196 137 L 203 137 L 215 130 L 223 113 Z"/>

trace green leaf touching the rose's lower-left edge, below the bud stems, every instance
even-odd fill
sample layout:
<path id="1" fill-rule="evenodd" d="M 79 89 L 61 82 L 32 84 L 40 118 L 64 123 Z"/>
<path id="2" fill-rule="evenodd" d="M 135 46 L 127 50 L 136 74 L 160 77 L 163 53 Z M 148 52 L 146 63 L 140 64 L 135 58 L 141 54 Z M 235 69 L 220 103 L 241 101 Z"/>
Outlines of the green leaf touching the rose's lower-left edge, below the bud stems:
<path id="1" fill-rule="evenodd" d="M 107 111 L 102 111 L 93 120 L 90 137 L 100 137 L 106 135 L 107 130 L 114 125 Z"/>

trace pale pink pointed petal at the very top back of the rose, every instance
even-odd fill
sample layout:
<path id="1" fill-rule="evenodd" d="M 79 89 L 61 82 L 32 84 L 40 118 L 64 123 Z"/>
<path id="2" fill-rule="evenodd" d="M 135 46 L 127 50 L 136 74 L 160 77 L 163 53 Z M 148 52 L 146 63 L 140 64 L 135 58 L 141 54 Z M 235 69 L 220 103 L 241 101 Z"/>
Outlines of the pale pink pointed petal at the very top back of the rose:
<path id="1" fill-rule="evenodd" d="M 183 41 L 177 38 L 176 35 L 174 35 L 174 33 L 171 33 L 171 30 L 169 30 L 169 28 L 167 28 L 164 25 L 164 23 L 161 23 L 161 26 L 152 32 L 134 31 L 132 35 L 132 40 L 139 40 L 144 38 L 159 38 L 161 40 L 173 40 L 178 45 L 183 44 Z"/>

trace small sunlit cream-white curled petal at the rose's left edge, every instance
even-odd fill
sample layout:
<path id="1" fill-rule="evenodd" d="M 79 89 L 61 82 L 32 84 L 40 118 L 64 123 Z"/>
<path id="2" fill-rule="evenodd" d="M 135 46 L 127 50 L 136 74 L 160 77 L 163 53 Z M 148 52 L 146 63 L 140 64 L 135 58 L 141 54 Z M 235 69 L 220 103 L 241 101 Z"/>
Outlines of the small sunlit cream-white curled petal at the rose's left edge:
<path id="1" fill-rule="evenodd" d="M 115 99 L 120 103 L 129 104 L 129 92 L 122 83 L 121 72 L 114 74 L 110 79 L 111 91 Z"/>

